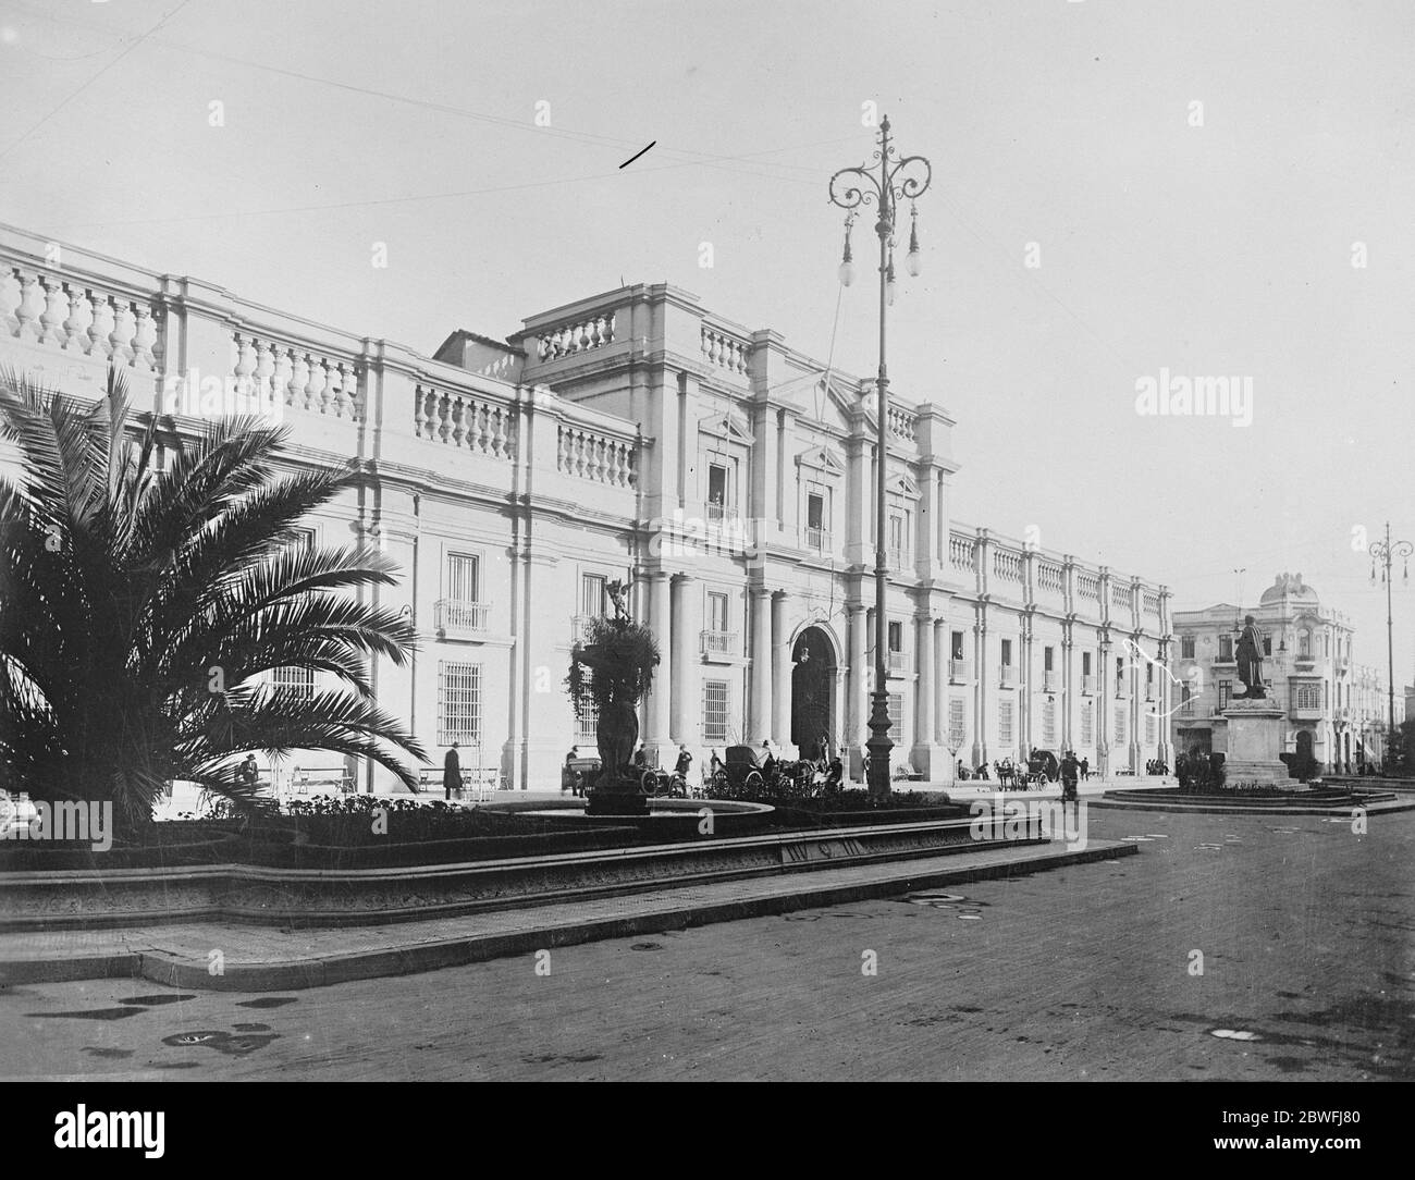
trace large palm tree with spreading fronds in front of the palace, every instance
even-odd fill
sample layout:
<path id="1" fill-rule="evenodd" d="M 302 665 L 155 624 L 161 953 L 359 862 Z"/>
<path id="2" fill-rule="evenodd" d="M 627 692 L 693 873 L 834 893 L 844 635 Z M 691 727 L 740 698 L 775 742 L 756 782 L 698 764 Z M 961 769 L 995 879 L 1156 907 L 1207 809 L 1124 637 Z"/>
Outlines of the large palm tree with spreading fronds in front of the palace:
<path id="1" fill-rule="evenodd" d="M 399 756 L 426 754 L 365 672 L 408 659 L 412 624 L 338 593 L 391 586 L 396 567 L 293 545 L 350 473 L 277 474 L 286 429 L 253 419 L 184 441 L 142 417 L 129 430 L 113 371 L 92 405 L 0 371 L 0 436 L 20 453 L 20 478 L 0 475 L 0 785 L 112 801 L 130 826 L 173 780 L 269 806 L 241 756 L 311 748 L 374 758 L 416 791 Z M 341 683 L 262 683 L 275 668 Z"/>

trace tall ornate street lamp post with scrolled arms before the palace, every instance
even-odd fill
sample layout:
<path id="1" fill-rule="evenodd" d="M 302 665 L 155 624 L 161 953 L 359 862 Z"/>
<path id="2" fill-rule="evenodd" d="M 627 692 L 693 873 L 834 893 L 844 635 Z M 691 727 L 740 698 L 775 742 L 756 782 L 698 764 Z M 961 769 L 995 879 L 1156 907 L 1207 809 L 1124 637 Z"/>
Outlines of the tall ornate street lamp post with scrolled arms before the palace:
<path id="1" fill-rule="evenodd" d="M 879 168 L 877 175 L 873 171 L 876 164 L 865 164 L 857 168 L 842 168 L 831 177 L 831 201 L 848 211 L 845 216 L 845 258 L 841 260 L 841 283 L 845 286 L 849 286 L 855 279 L 855 262 L 850 258 L 850 226 L 855 224 L 855 211 L 860 205 L 879 208 L 879 221 L 874 224 L 874 232 L 880 239 L 880 371 L 874 451 L 874 692 L 872 693 L 870 739 L 865 743 L 870 756 L 869 788 L 874 798 L 889 794 L 889 756 L 894 747 L 889 737 L 889 669 L 886 668 L 889 624 L 884 615 L 886 586 L 889 583 L 884 550 L 884 477 L 889 465 L 889 372 L 884 364 L 884 321 L 890 304 L 894 303 L 894 228 L 899 202 L 901 199 L 910 202 L 908 255 L 906 255 L 904 263 L 910 274 L 918 274 L 918 209 L 914 208 L 913 201 L 923 195 L 932 177 L 932 168 L 923 156 L 899 157 L 889 139 L 889 116 L 880 120 L 879 144 L 873 156 Z"/>

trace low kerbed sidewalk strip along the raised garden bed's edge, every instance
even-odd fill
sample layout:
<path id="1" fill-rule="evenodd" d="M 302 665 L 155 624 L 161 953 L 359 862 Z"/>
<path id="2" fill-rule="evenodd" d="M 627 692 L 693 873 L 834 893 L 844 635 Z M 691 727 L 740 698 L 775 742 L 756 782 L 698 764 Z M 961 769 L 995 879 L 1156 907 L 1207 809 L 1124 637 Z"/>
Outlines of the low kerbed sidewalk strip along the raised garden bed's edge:
<path id="1" fill-rule="evenodd" d="M 1138 850 L 1133 843 L 1116 840 L 1091 840 L 1080 849 L 1061 842 L 1015 845 L 966 856 L 668 886 L 655 893 L 382 927 L 273 930 L 209 922 L 0 934 L 0 983 L 142 978 L 194 990 L 283 992 L 890 897 L 924 887 L 1024 876 L 1133 856 Z"/>

